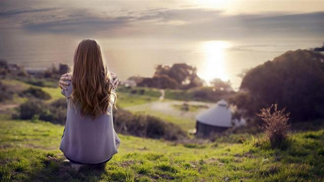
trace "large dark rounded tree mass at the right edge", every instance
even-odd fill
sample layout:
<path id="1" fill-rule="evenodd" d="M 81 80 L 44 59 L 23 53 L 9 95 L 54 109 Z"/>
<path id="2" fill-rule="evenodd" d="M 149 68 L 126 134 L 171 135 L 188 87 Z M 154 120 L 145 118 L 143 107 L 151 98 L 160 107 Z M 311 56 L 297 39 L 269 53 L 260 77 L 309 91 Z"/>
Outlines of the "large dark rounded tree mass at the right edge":
<path id="1" fill-rule="evenodd" d="M 271 104 L 287 107 L 291 122 L 324 118 L 324 55 L 308 50 L 285 52 L 249 70 L 230 102 L 250 118 Z"/>

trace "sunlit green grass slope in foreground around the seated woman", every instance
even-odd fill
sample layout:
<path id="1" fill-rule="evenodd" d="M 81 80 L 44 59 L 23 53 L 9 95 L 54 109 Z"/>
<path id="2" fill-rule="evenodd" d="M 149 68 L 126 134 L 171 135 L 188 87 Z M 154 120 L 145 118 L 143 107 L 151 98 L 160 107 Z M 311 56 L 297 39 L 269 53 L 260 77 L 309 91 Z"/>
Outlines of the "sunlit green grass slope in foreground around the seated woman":
<path id="1" fill-rule="evenodd" d="M 42 121 L 0 118 L 1 181 L 309 181 L 324 178 L 324 130 L 290 135 L 282 151 L 229 138 L 181 144 L 120 135 L 106 166 L 75 172 L 58 150 L 63 127 Z M 232 138 L 237 138 L 238 135 Z"/>

